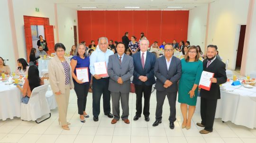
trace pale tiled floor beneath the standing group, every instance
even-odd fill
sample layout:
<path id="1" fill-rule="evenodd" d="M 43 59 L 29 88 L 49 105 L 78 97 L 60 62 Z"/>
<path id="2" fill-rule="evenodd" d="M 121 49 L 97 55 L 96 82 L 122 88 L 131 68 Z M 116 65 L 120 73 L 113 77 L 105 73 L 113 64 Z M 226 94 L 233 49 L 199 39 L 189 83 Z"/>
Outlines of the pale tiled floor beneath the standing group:
<path id="1" fill-rule="evenodd" d="M 146 122 L 144 117 L 137 121 L 132 120 L 136 112 L 136 95 L 132 93 L 129 96 L 130 124 L 125 124 L 122 120 L 115 125 L 110 124 L 111 118 L 103 114 L 102 99 L 99 121 L 94 122 L 91 96 L 92 94 L 89 93 L 86 105 L 90 118 L 87 118 L 85 123 L 81 123 L 77 114 L 77 98 L 74 91 L 71 91 L 67 114 L 71 123 L 70 131 L 63 130 L 59 126 L 58 111 L 54 109 L 52 117 L 40 124 L 22 121 L 19 118 L 0 120 L 0 143 L 256 143 L 256 129 L 237 126 L 231 122 L 222 123 L 221 119 L 215 119 L 212 133 L 199 134 L 202 129 L 196 126 L 196 123 L 201 121 L 199 113 L 194 114 L 191 129 L 182 129 L 182 115 L 178 102 L 176 103 L 177 121 L 174 122 L 174 130 L 171 130 L 168 122 L 167 98 L 163 109 L 163 123 L 153 127 L 155 92 L 151 95 L 149 122 Z"/>

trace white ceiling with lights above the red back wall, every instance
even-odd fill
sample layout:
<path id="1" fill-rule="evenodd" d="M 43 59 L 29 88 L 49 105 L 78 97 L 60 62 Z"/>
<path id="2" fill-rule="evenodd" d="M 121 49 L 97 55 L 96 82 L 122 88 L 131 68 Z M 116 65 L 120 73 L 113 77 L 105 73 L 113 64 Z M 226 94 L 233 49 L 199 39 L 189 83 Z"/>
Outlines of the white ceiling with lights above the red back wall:
<path id="1" fill-rule="evenodd" d="M 214 2 L 214 0 L 54 0 L 54 2 L 77 10 L 190 10 Z"/>

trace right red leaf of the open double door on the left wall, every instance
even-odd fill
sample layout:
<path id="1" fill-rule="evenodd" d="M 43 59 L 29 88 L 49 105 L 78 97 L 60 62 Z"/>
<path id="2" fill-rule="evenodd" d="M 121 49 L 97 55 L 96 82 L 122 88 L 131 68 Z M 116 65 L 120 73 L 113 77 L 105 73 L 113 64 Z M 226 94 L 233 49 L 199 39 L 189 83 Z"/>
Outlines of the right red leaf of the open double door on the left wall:
<path id="1" fill-rule="evenodd" d="M 54 30 L 53 25 L 45 25 L 45 36 L 48 47 L 48 54 L 54 53 Z"/>

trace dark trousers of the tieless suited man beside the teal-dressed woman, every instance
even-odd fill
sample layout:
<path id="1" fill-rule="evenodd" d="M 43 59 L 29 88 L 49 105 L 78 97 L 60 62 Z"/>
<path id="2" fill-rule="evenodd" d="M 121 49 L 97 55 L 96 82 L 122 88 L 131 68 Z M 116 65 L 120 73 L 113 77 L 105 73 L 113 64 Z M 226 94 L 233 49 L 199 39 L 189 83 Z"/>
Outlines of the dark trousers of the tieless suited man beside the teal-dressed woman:
<path id="1" fill-rule="evenodd" d="M 163 104 L 165 101 L 165 96 L 167 95 L 169 105 L 170 105 L 170 116 L 169 121 L 174 122 L 176 120 L 176 99 L 177 92 L 167 92 L 156 90 L 156 110 L 155 110 L 155 120 L 162 120 Z"/>

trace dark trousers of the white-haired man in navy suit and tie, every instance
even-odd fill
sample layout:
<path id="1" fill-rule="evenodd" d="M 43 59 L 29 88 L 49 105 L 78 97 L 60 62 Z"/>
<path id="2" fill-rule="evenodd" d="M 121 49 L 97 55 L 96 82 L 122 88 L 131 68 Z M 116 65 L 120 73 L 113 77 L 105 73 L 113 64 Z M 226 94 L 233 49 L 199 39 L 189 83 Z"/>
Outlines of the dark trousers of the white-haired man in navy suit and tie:
<path id="1" fill-rule="evenodd" d="M 142 112 L 142 96 L 144 94 L 144 108 L 143 115 L 149 116 L 149 102 L 152 91 L 152 85 L 147 86 L 144 83 L 142 85 L 135 84 L 135 93 L 136 93 L 136 116 L 141 116 Z"/>

